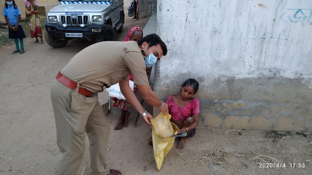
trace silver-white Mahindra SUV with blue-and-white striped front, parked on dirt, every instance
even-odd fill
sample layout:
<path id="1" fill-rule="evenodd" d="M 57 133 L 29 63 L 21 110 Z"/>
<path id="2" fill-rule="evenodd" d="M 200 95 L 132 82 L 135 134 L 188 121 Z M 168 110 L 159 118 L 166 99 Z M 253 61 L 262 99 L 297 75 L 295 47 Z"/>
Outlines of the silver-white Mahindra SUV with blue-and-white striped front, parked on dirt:
<path id="1" fill-rule="evenodd" d="M 46 17 L 46 42 L 64 47 L 72 38 L 114 41 L 124 30 L 123 0 L 59 0 Z"/>

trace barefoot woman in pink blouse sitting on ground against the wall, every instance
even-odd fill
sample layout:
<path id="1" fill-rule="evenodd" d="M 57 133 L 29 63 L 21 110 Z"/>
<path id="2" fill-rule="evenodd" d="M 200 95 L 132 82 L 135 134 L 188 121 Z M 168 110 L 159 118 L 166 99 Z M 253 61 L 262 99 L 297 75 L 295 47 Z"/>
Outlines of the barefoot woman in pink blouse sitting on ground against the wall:
<path id="1" fill-rule="evenodd" d="M 182 131 L 187 132 L 187 136 L 181 137 L 177 148 L 183 149 L 187 138 L 193 137 L 196 133 L 196 126 L 199 123 L 199 101 L 193 95 L 197 93 L 199 84 L 195 79 L 187 79 L 181 87 L 179 95 L 170 95 L 167 100 L 171 120 L 178 128 L 178 135 Z M 152 137 L 149 138 L 152 145 Z"/>

